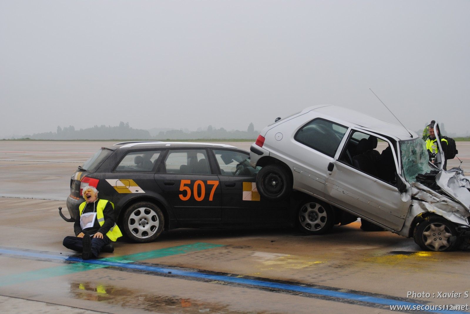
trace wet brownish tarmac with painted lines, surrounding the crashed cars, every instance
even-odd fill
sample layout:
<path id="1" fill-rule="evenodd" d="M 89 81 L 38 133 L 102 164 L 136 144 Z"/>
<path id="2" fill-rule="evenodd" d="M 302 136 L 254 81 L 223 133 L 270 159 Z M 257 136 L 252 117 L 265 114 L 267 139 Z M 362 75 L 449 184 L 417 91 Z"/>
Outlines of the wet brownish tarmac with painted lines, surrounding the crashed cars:
<path id="1" fill-rule="evenodd" d="M 464 294 L 436 296 L 470 290 L 470 252 L 423 252 L 359 222 L 322 236 L 172 230 L 152 243 L 120 239 L 114 253 L 81 260 L 62 246 L 73 226 L 57 207 L 65 208 L 74 169 L 108 144 L 1 142 L 2 313 L 388 313 L 392 304 L 469 303 Z M 470 145 L 457 147 L 470 168 Z"/>

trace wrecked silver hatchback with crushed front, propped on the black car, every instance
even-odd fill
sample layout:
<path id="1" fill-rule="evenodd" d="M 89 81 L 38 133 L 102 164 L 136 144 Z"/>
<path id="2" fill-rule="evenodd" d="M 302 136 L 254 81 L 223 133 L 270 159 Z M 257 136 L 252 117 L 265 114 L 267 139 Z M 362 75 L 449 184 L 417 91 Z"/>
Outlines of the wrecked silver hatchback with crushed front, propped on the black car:
<path id="1" fill-rule="evenodd" d="M 308 107 L 276 119 L 250 151 L 251 165 L 263 167 L 261 195 L 283 199 L 297 190 L 317 200 L 298 215 L 305 228 L 328 225 L 341 209 L 425 250 L 469 244 L 469 179 L 461 168 L 442 170 L 444 154 L 431 163 L 423 139 L 402 126 L 343 107 Z"/>

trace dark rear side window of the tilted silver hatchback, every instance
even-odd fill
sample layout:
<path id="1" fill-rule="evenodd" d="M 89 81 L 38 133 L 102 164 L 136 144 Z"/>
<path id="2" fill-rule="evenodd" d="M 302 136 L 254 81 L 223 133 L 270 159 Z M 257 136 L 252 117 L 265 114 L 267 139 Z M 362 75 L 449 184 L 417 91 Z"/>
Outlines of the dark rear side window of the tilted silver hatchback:
<path id="1" fill-rule="evenodd" d="M 324 119 L 315 119 L 297 131 L 294 139 L 330 157 L 334 157 L 345 136 L 344 125 Z"/>

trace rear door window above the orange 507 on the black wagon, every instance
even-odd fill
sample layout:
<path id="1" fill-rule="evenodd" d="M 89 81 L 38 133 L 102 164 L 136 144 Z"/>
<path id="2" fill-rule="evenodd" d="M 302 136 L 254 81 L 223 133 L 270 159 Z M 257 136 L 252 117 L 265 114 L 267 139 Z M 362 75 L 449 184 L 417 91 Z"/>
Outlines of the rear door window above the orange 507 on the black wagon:
<path id="1" fill-rule="evenodd" d="M 174 149 L 168 152 L 164 173 L 211 174 L 205 149 Z"/>

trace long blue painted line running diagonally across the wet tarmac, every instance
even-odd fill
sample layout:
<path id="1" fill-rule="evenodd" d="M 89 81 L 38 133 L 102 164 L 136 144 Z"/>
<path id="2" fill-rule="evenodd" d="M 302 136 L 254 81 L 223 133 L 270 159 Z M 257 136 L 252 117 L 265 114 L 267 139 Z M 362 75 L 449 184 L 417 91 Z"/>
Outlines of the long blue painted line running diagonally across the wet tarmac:
<path id="1" fill-rule="evenodd" d="M 287 283 L 274 283 L 269 281 L 257 280 L 257 279 L 247 279 L 247 278 L 239 278 L 239 277 L 232 277 L 232 276 L 224 276 L 224 275 L 212 275 L 212 274 L 204 274 L 200 272 L 194 271 L 187 271 L 187 270 L 180 270 L 175 268 L 164 268 L 164 267 L 156 267 L 156 266 L 149 266 L 149 265 L 142 265 L 138 263 L 129 263 L 127 260 L 121 261 L 110 261 L 105 259 L 99 260 L 82 260 L 78 257 L 73 256 L 58 256 L 52 254 L 45 254 L 45 253 L 34 253 L 34 252 L 27 252 L 27 251 L 17 251 L 17 250 L 8 250 L 8 249 L 0 249 L 0 253 L 10 254 L 10 255 L 19 255 L 19 256 L 27 256 L 27 257 L 34 257 L 34 258 L 42 258 L 42 259 L 52 259 L 52 260 L 66 260 L 66 261 L 73 261 L 73 262 L 81 262 L 81 263 L 88 263 L 94 265 L 100 265 L 104 267 L 118 267 L 118 268 L 128 268 L 128 269 L 135 269 L 135 270 L 142 270 L 147 272 L 154 272 L 166 275 L 175 275 L 175 276 L 183 276 L 183 277 L 192 277 L 192 278 L 200 278 L 200 279 L 208 279 L 208 280 L 216 280 L 222 281 L 227 283 L 236 283 L 236 284 L 243 284 L 255 287 L 263 287 L 263 288 L 274 288 L 274 289 L 281 289 L 285 291 L 295 291 L 295 292 L 302 292 L 302 293 L 309 293 L 319 296 L 326 296 L 326 297 L 333 297 L 339 299 L 348 299 L 354 300 L 359 302 L 368 302 L 374 304 L 380 304 L 385 306 L 423 306 L 423 304 L 419 303 L 412 303 L 412 302 L 405 302 L 399 301 L 394 299 L 385 299 L 385 298 L 377 298 L 367 295 L 360 295 L 355 293 L 349 292 L 341 292 L 341 291 L 334 291 L 334 290 L 327 290 L 327 289 L 319 289 L 313 287 L 306 287 L 302 285 L 295 285 L 295 284 L 287 284 Z M 464 314 L 468 312 L 462 311 L 427 311 L 428 313 L 443 313 L 443 314 Z"/>

